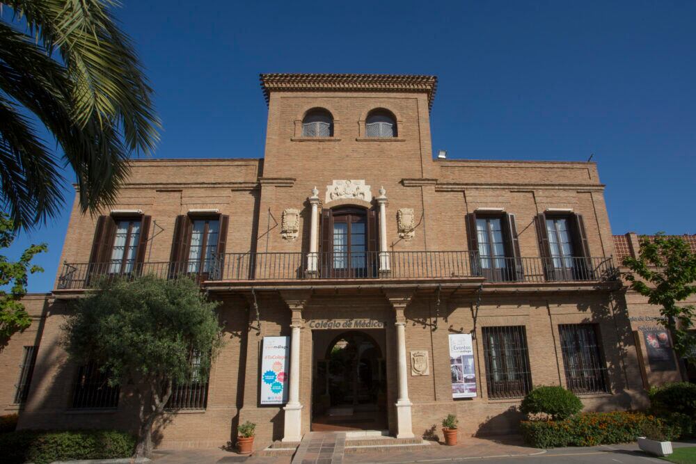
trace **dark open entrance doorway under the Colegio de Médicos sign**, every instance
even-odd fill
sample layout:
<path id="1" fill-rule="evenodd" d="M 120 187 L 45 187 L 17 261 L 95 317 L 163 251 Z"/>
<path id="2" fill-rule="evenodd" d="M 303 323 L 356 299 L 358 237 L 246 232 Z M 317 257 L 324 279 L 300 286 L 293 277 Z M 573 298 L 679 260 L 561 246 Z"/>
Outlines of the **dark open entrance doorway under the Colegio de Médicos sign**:
<path id="1" fill-rule="evenodd" d="M 312 430 L 388 429 L 384 330 L 315 330 Z"/>

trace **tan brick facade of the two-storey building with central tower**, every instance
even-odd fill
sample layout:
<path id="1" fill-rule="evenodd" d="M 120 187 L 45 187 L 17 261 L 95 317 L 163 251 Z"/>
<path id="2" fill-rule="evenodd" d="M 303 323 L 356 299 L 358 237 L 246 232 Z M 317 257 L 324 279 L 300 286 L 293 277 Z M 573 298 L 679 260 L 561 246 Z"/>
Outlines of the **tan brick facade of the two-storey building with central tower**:
<path id="1" fill-rule="evenodd" d="M 283 407 L 260 404 L 259 360 L 263 337 L 291 335 L 289 298 L 296 298 L 296 292 L 306 294 L 299 306 L 303 433 L 313 420 L 315 353 L 326 350 L 328 346 L 319 346 L 333 338 L 310 325 L 330 319 L 383 323 L 383 329 L 368 332 L 379 334 L 375 339 L 386 364 L 386 421 L 391 433 L 399 432 L 395 322 L 401 315 L 388 298 L 393 291 L 402 292 L 408 302 L 403 314 L 406 377 L 416 436 L 434 425 L 438 430 L 441 419 L 453 411 L 459 415 L 463 436 L 515 431 L 519 398 L 488 397 L 485 327 L 524 326 L 532 384 L 566 386 L 559 325 L 595 323 L 608 392 L 580 395 L 587 410 L 640 408 L 646 402 L 645 387 L 678 378 L 677 371 L 652 372 L 639 361 L 647 359 L 646 350 L 635 337 L 640 324 L 629 317 L 655 316 L 655 308 L 630 293 L 624 299 L 620 283 L 607 281 L 597 271 L 609 269 L 606 262 L 611 263 L 619 251 L 615 243 L 620 240 L 612 237 L 596 164 L 434 160 L 429 112 L 435 83 L 434 77 L 267 74 L 262 76 L 269 106 L 263 159 L 131 162 L 131 174 L 112 209 L 141 210 L 152 218 L 143 269 L 169 269 L 177 216 L 207 210 L 230 218 L 222 269 L 202 282 L 212 298 L 222 302 L 226 345 L 212 368 L 207 407 L 168 413 L 157 427 L 160 447 L 221 446 L 234 440 L 237 424 L 246 420 L 258 424 L 256 447 L 283 438 Z M 333 115 L 332 137 L 302 136 L 304 115 L 315 108 Z M 373 109 L 394 115 L 396 137 L 367 137 L 366 120 Z M 344 199 L 334 205 L 368 206 L 379 214 L 378 191 L 386 190 L 387 248 L 379 251 L 392 260 L 389 273 L 365 279 L 311 273 L 308 198 L 316 187 L 325 208 L 327 186 L 341 179 L 364 180 L 371 186 L 372 198 Z M 300 211 L 296 240 L 281 234 L 287 208 Z M 415 218 L 411 239 L 400 237 L 397 229 L 397 211 L 405 208 L 413 209 Z M 474 271 L 470 254 L 457 253 L 469 248 L 467 215 L 503 210 L 514 214 L 516 262 L 522 269 L 518 275 L 525 277 L 491 281 Z M 588 250 L 583 262 L 591 257 L 592 269 L 603 266 L 596 267 L 590 278 L 548 278 L 544 266 L 551 261 L 544 261 L 535 227 L 535 217 L 545 211 L 582 216 Z M 61 257 L 65 266 L 58 270 L 54 291 L 27 297 L 35 323 L 13 336 L 0 352 L 3 372 L 8 373 L 0 383 L 1 401 L 6 411 L 19 410 L 13 395 L 22 346 L 39 345 L 20 428 L 136 428 L 128 385 L 122 386 L 115 409 L 70 408 L 76 367 L 61 347 L 61 323 L 70 311 L 70 300 L 84 292 L 87 281 L 71 279 L 80 269 L 88 269 L 95 221 L 80 214 L 77 203 L 73 206 Z M 319 241 L 322 233 L 318 230 Z M 619 253 L 629 249 L 624 245 L 619 243 L 623 247 Z M 397 259 L 402 264 L 397 266 Z M 457 266 L 464 271 L 454 270 Z M 454 333 L 473 334 L 477 395 L 471 399 L 452 399 L 448 335 Z M 638 350 L 637 341 L 642 344 Z M 428 375 L 411 375 L 408 353 L 416 350 L 428 353 Z"/>

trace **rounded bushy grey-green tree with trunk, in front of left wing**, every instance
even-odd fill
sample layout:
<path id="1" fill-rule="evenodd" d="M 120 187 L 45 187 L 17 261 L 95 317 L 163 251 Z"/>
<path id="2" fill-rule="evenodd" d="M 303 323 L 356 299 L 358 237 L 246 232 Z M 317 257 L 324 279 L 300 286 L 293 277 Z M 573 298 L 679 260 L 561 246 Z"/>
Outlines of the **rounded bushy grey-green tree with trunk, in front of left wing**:
<path id="1" fill-rule="evenodd" d="M 189 278 L 120 278 L 103 280 L 65 323 L 73 360 L 95 362 L 111 385 L 134 383 L 141 421 L 136 456 L 150 455 L 152 425 L 173 385 L 207 378 L 222 344 L 216 306 Z"/>

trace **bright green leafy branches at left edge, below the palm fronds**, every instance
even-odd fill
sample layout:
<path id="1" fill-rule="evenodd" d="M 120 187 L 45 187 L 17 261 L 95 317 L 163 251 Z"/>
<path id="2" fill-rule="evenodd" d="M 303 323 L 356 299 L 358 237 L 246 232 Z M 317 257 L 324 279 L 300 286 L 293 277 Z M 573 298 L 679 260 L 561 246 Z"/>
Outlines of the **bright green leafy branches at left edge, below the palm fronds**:
<path id="1" fill-rule="evenodd" d="M 9 248 L 15 234 L 12 221 L 6 214 L 0 213 L 0 248 Z M 11 262 L 0 255 L 0 340 L 3 342 L 17 330 L 24 330 L 31 325 L 31 317 L 22 305 L 22 297 L 26 295 L 29 274 L 43 272 L 40 266 L 31 264 L 31 260 L 46 250 L 46 243 L 31 245 L 24 250 L 17 262 Z M 8 288 L 9 292 L 5 290 Z"/>

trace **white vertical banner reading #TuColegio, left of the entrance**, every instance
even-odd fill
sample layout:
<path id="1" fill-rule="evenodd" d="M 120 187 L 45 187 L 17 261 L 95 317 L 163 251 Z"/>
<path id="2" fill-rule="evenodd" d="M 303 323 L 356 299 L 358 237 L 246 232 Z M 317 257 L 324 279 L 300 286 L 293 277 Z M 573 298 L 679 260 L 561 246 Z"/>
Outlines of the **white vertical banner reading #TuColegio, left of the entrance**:
<path id="1" fill-rule="evenodd" d="M 287 403 L 290 372 L 290 337 L 263 337 L 261 351 L 261 404 Z"/>

